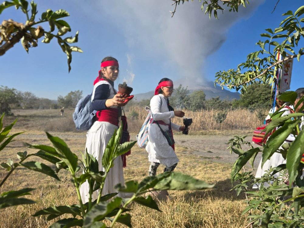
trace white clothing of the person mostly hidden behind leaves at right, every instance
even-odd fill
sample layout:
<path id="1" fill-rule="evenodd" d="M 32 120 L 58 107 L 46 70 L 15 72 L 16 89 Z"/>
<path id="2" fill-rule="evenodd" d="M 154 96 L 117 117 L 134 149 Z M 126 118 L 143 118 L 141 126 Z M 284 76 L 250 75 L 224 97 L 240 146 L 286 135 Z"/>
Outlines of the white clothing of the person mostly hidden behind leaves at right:
<path id="1" fill-rule="evenodd" d="M 289 105 L 289 107 L 293 109 L 293 106 L 292 106 L 292 105 Z M 281 110 L 286 110 L 285 112 L 283 112 L 282 116 L 287 116 L 288 114 L 291 113 L 290 110 L 289 110 L 288 108 L 282 108 Z M 300 129 L 302 129 L 302 127 L 303 127 L 303 121 L 304 121 L 304 119 L 303 119 L 303 117 L 302 117 L 302 122 L 301 122 L 301 124 L 300 124 Z M 295 140 L 295 136 L 294 136 L 293 134 L 290 134 L 290 135 L 286 138 L 286 140 L 285 140 L 284 143 L 290 143 L 290 142 L 292 142 L 292 141 L 294 141 L 294 140 Z M 284 144 L 284 143 L 283 143 L 283 144 Z M 280 146 L 279 149 L 282 149 L 282 146 Z M 286 159 L 284 159 L 284 157 L 282 156 L 282 154 L 277 153 L 277 152 L 275 152 L 275 153 L 270 157 L 270 159 L 267 160 L 267 161 L 264 163 L 263 167 L 261 167 L 261 165 L 262 165 L 262 158 L 261 158 L 261 161 L 260 161 L 259 166 L 258 166 L 258 168 L 257 168 L 257 173 L 255 174 L 255 178 L 261 178 L 261 177 L 266 173 L 266 171 L 268 171 L 268 170 L 270 169 L 270 167 L 277 167 L 278 165 L 281 165 L 281 164 L 286 164 Z M 278 172 L 278 173 L 274 174 L 273 176 L 274 176 L 275 178 L 278 178 L 280 175 L 282 175 L 282 174 Z M 265 183 L 264 183 L 264 186 L 265 186 L 265 187 L 266 187 L 266 186 L 269 186 L 269 184 L 265 182 Z M 254 185 L 254 186 L 253 186 L 253 188 L 257 188 L 257 187 L 258 187 L 257 185 Z"/>

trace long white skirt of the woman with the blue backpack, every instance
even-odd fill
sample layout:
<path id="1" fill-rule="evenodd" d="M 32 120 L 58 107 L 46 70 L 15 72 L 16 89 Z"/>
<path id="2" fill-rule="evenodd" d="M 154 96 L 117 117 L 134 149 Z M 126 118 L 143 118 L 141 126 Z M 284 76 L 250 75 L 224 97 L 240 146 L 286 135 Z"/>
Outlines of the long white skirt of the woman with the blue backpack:
<path id="1" fill-rule="evenodd" d="M 109 122 L 95 121 L 93 126 L 87 132 L 85 148 L 87 148 L 89 154 L 92 154 L 98 160 L 99 171 L 105 171 L 105 168 L 102 166 L 102 155 L 110 138 L 114 134 L 115 129 L 117 129 L 117 126 Z M 123 177 L 123 161 L 120 156 L 114 160 L 114 166 L 109 170 L 105 179 L 102 195 L 117 192 L 114 187 L 119 183 L 123 186 L 125 185 Z M 92 201 L 97 199 L 98 194 L 99 190 L 93 192 Z M 88 181 L 80 186 L 80 195 L 83 203 L 89 201 Z M 121 198 L 127 198 L 124 192 L 119 192 L 118 196 Z"/>

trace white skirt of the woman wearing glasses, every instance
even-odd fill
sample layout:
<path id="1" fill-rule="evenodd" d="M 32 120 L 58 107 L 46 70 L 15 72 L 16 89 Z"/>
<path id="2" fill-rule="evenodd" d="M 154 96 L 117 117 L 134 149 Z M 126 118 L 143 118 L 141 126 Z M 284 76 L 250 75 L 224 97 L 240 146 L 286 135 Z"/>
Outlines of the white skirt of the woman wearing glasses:
<path id="1" fill-rule="evenodd" d="M 166 131 L 168 126 L 160 125 Z M 168 167 L 178 163 L 178 158 L 156 123 L 150 125 L 148 144 L 146 146 L 150 162 L 158 162 Z"/>

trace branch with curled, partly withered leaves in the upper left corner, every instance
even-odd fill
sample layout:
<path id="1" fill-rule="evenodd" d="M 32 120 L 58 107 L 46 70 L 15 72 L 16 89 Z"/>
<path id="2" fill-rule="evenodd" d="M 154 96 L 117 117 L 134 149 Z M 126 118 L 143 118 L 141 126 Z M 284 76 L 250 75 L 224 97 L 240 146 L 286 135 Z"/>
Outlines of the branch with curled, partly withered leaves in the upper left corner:
<path id="1" fill-rule="evenodd" d="M 29 5 L 31 9 L 29 10 Z M 5 1 L 0 5 L 0 14 L 6 8 L 15 6 L 16 9 L 26 15 L 26 22 L 19 23 L 12 19 L 4 20 L 0 25 L 0 56 L 4 55 L 7 50 L 12 48 L 16 43 L 21 40 L 21 44 L 26 52 L 29 52 L 29 47 L 37 47 L 38 39 L 44 36 L 43 43 L 50 43 L 55 37 L 62 51 L 67 55 L 67 64 L 69 72 L 71 70 L 72 51 L 82 52 L 79 47 L 70 46 L 70 43 L 78 42 L 78 31 L 74 37 L 62 38 L 67 32 L 71 32 L 70 25 L 60 18 L 70 16 L 69 13 L 63 9 L 56 10 L 47 9 L 46 12 L 41 14 L 41 18 L 35 21 L 37 11 L 37 4 L 31 1 L 30 4 L 26 0 L 10 0 Z M 29 11 L 31 14 L 29 15 Z M 59 20 L 60 19 L 60 20 Z M 50 31 L 46 31 L 41 26 L 35 27 L 37 24 L 48 22 L 50 25 Z M 57 27 L 57 33 L 54 33 L 55 26 Z M 4 43 L 3 43 L 4 42 Z M 2 44 L 3 43 L 3 44 Z"/>

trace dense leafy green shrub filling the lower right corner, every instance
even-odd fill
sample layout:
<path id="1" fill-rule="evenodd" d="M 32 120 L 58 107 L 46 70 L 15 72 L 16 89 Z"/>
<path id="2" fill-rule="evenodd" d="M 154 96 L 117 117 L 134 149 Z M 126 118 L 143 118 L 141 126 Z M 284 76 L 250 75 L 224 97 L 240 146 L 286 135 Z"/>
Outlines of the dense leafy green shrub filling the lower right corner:
<path id="1" fill-rule="evenodd" d="M 279 100 L 292 104 L 296 98 L 297 94 L 293 91 L 284 92 L 278 97 Z M 304 97 L 295 105 L 294 111 L 303 101 Z M 304 167 L 301 163 L 304 138 L 303 131 L 299 129 L 304 114 L 299 112 L 282 116 L 284 111 L 281 109 L 272 114 L 272 121 L 265 128 L 265 135 L 275 128 L 277 130 L 271 134 L 262 150 L 258 147 L 253 148 L 249 142 L 245 142 L 246 136 L 235 136 L 228 142 L 230 146 L 227 149 L 239 156 L 233 164 L 231 181 L 241 182 L 233 189 L 236 189 L 238 194 L 244 191 L 248 195 L 248 207 L 243 214 L 252 213 L 248 217 L 252 219 L 250 224 L 255 227 L 304 227 L 304 179 L 301 177 Z M 300 111 L 302 110 L 303 107 Z M 295 140 L 290 144 L 284 143 L 289 134 L 294 134 Z M 250 149 L 242 150 L 244 144 L 248 144 Z M 282 149 L 279 149 L 281 145 Z M 240 172 L 248 162 L 253 168 L 254 159 L 261 151 L 262 166 L 275 152 L 282 154 L 286 164 L 271 168 L 261 178 L 254 178 L 251 172 Z M 277 173 L 278 177 L 274 177 Z M 264 186 L 264 183 L 267 185 Z M 257 192 L 248 191 L 248 187 L 252 185 L 258 187 Z"/>

